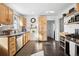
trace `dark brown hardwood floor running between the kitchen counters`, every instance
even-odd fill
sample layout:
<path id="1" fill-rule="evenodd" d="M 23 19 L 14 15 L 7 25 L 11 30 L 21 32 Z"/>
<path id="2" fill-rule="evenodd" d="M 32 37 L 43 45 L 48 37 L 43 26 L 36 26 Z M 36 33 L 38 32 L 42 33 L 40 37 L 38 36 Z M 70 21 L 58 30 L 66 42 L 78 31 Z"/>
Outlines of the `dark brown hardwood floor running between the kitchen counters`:
<path id="1" fill-rule="evenodd" d="M 36 52 L 44 51 L 45 56 L 64 56 L 64 50 L 59 42 L 48 38 L 47 42 L 29 41 L 16 56 L 30 56 Z"/>

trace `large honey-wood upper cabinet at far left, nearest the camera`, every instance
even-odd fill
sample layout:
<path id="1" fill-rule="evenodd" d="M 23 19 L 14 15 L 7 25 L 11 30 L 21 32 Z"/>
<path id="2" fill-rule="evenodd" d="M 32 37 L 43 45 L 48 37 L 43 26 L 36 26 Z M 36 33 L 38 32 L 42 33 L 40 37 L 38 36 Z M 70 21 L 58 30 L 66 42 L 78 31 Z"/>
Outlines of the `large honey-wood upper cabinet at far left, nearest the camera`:
<path id="1" fill-rule="evenodd" d="M 4 4 L 0 4 L 0 24 L 10 25 L 13 22 L 13 11 Z"/>

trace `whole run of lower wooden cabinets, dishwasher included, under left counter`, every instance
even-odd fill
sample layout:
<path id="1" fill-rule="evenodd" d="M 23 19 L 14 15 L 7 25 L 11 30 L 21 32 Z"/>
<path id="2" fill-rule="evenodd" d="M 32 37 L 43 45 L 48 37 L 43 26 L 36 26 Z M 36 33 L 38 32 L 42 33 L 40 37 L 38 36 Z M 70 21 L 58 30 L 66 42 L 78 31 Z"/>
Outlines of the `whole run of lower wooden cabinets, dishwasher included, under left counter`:
<path id="1" fill-rule="evenodd" d="M 0 56 L 13 56 L 30 40 L 30 32 L 0 37 Z"/>

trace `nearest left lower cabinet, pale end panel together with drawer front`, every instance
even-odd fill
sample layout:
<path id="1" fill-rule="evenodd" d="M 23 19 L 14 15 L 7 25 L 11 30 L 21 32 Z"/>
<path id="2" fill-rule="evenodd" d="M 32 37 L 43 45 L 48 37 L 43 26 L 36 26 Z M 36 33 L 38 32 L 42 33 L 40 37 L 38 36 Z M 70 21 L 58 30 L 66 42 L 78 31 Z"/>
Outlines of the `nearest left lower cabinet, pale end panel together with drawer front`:
<path id="1" fill-rule="evenodd" d="M 0 37 L 0 55 L 13 56 L 16 53 L 15 36 Z"/>

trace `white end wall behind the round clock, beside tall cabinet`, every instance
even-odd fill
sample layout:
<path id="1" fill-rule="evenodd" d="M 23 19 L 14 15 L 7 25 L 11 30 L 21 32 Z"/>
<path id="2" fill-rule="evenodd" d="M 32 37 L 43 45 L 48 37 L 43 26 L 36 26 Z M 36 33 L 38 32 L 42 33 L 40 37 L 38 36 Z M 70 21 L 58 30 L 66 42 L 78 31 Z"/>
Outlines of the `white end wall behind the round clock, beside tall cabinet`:
<path id="1" fill-rule="evenodd" d="M 26 18 L 27 18 L 27 24 L 28 24 L 27 31 L 30 31 L 30 33 L 31 33 L 31 40 L 38 40 L 38 16 L 26 16 Z M 36 22 L 34 24 L 31 23 L 31 18 L 35 18 L 36 19 Z M 35 33 L 33 33 L 32 29 L 30 29 L 31 28 L 31 24 L 33 26 L 37 27 L 36 29 L 33 29 L 33 30 L 35 30 Z"/>

